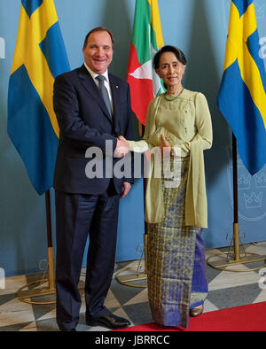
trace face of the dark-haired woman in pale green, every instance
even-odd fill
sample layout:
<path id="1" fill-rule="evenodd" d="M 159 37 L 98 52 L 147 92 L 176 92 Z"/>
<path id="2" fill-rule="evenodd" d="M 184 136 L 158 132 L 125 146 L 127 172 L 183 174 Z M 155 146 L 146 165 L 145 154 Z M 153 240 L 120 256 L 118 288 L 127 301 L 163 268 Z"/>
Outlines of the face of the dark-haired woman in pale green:
<path id="1" fill-rule="evenodd" d="M 173 52 L 164 52 L 160 56 L 159 68 L 156 73 L 160 76 L 167 87 L 181 86 L 185 66 L 179 62 Z"/>

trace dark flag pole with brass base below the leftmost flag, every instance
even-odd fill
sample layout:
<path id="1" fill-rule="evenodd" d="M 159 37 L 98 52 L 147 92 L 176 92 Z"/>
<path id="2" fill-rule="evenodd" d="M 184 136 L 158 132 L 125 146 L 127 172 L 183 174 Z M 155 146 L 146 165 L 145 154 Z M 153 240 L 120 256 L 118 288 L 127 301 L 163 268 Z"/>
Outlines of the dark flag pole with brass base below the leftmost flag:
<path id="1" fill-rule="evenodd" d="M 47 279 L 42 278 L 33 283 L 28 283 L 27 285 L 20 288 L 18 291 L 18 299 L 24 303 L 29 304 L 54 304 L 56 301 L 54 299 L 37 301 L 36 297 L 51 296 L 55 294 L 55 275 L 54 275 L 54 258 L 53 258 L 53 245 L 52 245 L 52 234 L 51 234 L 51 196 L 50 190 L 45 191 L 45 207 L 46 207 L 46 230 L 47 230 L 47 269 L 48 276 Z M 47 286 L 42 286 L 44 283 L 48 282 Z M 37 286 L 42 286 L 39 288 L 33 288 L 30 290 L 23 291 L 26 287 L 36 284 Z"/>

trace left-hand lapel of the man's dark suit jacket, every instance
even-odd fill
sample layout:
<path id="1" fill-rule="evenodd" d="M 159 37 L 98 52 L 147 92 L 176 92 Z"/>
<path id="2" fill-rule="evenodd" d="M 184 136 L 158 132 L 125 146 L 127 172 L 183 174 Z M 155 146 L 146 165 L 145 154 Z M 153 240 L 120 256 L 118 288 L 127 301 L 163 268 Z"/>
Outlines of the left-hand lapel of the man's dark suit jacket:
<path id="1" fill-rule="evenodd" d="M 93 81 L 90 73 L 88 72 L 88 70 L 84 65 L 81 66 L 80 68 L 79 77 L 80 77 L 80 80 L 82 81 L 82 85 L 90 93 L 90 96 L 93 97 L 93 99 L 98 103 L 98 105 L 106 115 L 106 118 L 113 123 L 113 120 L 111 119 L 109 112 L 107 110 L 105 101 L 101 97 L 101 94 L 98 90 L 98 87 L 95 81 Z"/>

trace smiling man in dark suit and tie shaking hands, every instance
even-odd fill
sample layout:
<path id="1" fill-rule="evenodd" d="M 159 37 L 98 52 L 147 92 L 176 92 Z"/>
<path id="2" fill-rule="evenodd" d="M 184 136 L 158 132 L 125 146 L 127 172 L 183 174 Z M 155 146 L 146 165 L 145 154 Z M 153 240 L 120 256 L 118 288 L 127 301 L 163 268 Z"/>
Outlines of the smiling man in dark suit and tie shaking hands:
<path id="1" fill-rule="evenodd" d="M 78 282 L 88 235 L 86 322 L 110 329 L 129 326 L 127 319 L 104 305 L 113 276 L 119 201 L 133 182 L 132 176 L 113 174 L 115 161 L 121 160 L 113 158 L 113 153 L 121 154 L 123 147 L 128 151 L 118 136 L 132 139 L 129 85 L 107 71 L 113 58 L 113 36 L 106 28 L 90 31 L 83 56 L 84 65 L 59 75 L 54 83 L 60 128 L 54 176 L 57 322 L 65 331 L 75 330 L 79 320 Z M 92 159 L 86 158 L 88 151 L 96 149 L 102 156 L 95 153 Z M 95 167 L 101 167 L 99 175 L 88 167 L 92 160 Z"/>

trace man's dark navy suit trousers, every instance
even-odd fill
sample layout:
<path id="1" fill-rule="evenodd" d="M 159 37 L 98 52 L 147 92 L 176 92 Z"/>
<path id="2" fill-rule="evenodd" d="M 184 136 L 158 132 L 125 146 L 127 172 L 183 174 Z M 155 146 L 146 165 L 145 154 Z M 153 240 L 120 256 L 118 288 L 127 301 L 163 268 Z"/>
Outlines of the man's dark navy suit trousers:
<path id="1" fill-rule="evenodd" d="M 111 181 L 104 194 L 56 190 L 55 198 L 57 322 L 60 330 L 69 330 L 79 320 L 82 301 L 78 283 L 88 236 L 86 318 L 109 313 L 104 302 L 113 277 L 120 195 Z"/>

